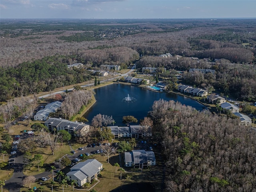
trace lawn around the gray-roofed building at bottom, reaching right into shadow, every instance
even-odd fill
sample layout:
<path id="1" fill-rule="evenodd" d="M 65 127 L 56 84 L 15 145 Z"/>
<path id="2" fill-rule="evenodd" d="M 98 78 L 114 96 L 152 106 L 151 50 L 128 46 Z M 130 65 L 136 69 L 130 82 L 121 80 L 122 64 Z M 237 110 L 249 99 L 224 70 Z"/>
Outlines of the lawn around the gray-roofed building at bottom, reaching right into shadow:
<path id="1" fill-rule="evenodd" d="M 98 192 L 110 192 L 111 190 L 117 188 L 118 186 L 122 186 L 125 184 L 130 184 L 130 183 L 134 183 L 134 182 L 150 182 L 151 184 L 154 184 L 154 186 L 156 186 L 156 188 L 160 187 L 161 181 L 162 181 L 162 177 L 159 176 L 161 175 L 161 171 L 162 171 L 162 166 L 161 164 L 157 165 L 157 166 L 152 166 L 150 169 L 144 169 L 144 170 L 139 170 L 139 169 L 131 169 L 131 168 L 124 168 L 125 171 L 122 172 L 122 180 L 120 180 L 120 171 L 118 171 L 117 167 L 117 172 L 116 172 L 116 167 L 113 166 L 114 163 L 118 162 L 119 164 L 123 164 L 123 159 L 124 159 L 124 154 L 121 154 L 119 157 L 119 154 L 116 154 L 115 156 L 112 156 L 110 158 L 110 163 L 107 162 L 107 157 L 106 156 L 102 156 L 100 154 L 94 154 L 91 155 L 90 158 L 95 158 L 96 160 L 98 160 L 99 162 L 101 162 L 103 164 L 103 168 L 104 170 L 101 172 L 102 177 L 98 178 L 98 180 L 100 180 L 100 182 L 95 182 L 97 183 L 96 185 L 90 185 L 89 189 L 92 190 L 95 189 Z M 120 162 L 120 160 L 122 162 Z M 84 161 L 84 160 L 82 160 Z M 123 166 L 123 165 L 122 165 Z M 65 168 L 63 170 L 63 172 L 67 173 L 69 172 L 68 168 Z M 130 178 L 126 178 L 128 176 L 130 176 Z M 31 186 L 34 187 L 36 186 L 37 188 L 39 186 L 43 186 L 44 187 L 44 192 L 50 192 L 51 191 L 51 181 L 45 181 L 42 182 L 41 180 L 36 181 L 34 184 L 32 184 Z M 40 184 L 41 183 L 41 184 Z M 92 188 L 91 188 L 92 187 Z M 56 184 L 54 184 L 54 191 L 62 191 L 62 186 L 59 186 L 58 182 L 56 182 Z M 83 190 L 87 190 L 88 188 L 83 188 Z M 89 191 L 90 191 L 89 190 Z M 28 191 L 28 187 L 23 187 L 21 190 L 21 192 L 26 192 Z M 64 191 L 73 191 L 72 186 L 64 186 Z M 81 191 L 79 189 L 75 189 L 75 192 Z"/>

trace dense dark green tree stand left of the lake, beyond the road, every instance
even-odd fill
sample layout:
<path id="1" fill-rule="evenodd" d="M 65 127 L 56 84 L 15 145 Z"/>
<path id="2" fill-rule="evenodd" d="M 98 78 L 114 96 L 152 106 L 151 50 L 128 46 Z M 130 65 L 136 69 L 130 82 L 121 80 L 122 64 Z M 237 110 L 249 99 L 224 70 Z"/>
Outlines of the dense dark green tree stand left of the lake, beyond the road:
<path id="1" fill-rule="evenodd" d="M 81 83 L 91 79 L 90 72 L 68 69 L 64 56 L 46 57 L 0 70 L 0 101 Z"/>

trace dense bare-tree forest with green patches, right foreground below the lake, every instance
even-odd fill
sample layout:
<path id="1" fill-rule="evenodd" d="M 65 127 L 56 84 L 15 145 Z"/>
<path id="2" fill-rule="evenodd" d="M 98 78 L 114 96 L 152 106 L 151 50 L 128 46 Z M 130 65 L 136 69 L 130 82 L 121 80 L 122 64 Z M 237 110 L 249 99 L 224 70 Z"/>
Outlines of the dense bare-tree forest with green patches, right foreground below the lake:
<path id="1" fill-rule="evenodd" d="M 174 101 L 155 101 L 150 117 L 162 140 L 168 191 L 256 191 L 254 129 Z"/>

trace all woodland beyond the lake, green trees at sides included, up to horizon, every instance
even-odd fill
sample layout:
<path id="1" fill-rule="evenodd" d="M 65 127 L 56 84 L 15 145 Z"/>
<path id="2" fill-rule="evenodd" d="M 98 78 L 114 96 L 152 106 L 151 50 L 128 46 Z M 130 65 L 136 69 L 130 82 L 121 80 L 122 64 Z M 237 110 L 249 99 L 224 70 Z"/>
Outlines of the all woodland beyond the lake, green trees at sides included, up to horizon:
<path id="1" fill-rule="evenodd" d="M 217 71 L 211 80 L 214 88 L 224 94 L 236 93 L 236 98 L 246 95 L 248 100 L 253 100 L 250 96 L 255 95 L 256 26 L 250 19 L 223 19 L 214 23 L 208 20 L 129 20 L 128 26 L 122 21 L 118 24 L 111 20 L 107 24 L 106 21 L 88 21 L 89 24 L 86 20 L 76 22 L 75 27 L 72 21 L 58 21 L 59 26 L 44 21 L 40 28 L 20 30 L 30 24 L 1 20 L 4 25 L 0 28 L 3 37 L 0 38 L 0 101 L 90 80 L 86 69 L 100 69 L 102 64 L 128 66 L 134 61 L 138 61 L 138 69 L 146 66 L 185 71 L 213 68 Z M 70 25 L 72 30 L 68 28 Z M 250 28 L 246 28 L 248 25 Z M 85 29 L 90 33 L 84 32 Z M 158 57 L 167 52 L 174 57 Z M 176 55 L 182 58 L 177 59 Z M 214 65 L 205 58 L 219 61 Z M 67 65 L 74 62 L 83 63 L 84 68 L 69 70 Z M 208 84 L 209 79 L 204 77 L 193 82 L 188 78 L 187 81 L 200 86 Z"/>

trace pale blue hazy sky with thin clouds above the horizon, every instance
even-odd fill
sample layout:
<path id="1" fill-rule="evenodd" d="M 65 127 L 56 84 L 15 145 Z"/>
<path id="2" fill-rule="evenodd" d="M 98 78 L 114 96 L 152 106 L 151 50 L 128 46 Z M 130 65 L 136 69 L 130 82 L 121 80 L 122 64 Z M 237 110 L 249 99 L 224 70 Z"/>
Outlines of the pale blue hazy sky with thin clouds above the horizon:
<path id="1" fill-rule="evenodd" d="M 256 0 L 0 0 L 0 18 L 256 18 Z"/>

